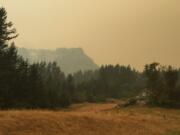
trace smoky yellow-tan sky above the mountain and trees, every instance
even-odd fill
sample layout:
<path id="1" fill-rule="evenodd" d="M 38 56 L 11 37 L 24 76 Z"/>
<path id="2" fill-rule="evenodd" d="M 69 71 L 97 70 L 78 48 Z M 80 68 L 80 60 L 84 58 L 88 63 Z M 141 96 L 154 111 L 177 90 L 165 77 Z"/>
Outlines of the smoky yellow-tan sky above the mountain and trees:
<path id="1" fill-rule="evenodd" d="M 1 0 L 18 47 L 82 47 L 97 64 L 180 67 L 180 0 Z"/>

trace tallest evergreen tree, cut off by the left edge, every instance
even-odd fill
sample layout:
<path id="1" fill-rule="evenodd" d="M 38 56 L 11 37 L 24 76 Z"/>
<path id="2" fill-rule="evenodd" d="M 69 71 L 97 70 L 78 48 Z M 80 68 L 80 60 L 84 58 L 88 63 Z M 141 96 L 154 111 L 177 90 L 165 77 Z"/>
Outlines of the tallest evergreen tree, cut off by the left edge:
<path id="1" fill-rule="evenodd" d="M 7 22 L 7 13 L 0 8 L 0 100 L 1 106 L 11 105 L 9 100 L 13 97 L 13 84 L 15 83 L 15 70 L 17 51 L 14 44 L 8 46 L 8 41 L 16 38 L 16 30 L 12 22 Z"/>

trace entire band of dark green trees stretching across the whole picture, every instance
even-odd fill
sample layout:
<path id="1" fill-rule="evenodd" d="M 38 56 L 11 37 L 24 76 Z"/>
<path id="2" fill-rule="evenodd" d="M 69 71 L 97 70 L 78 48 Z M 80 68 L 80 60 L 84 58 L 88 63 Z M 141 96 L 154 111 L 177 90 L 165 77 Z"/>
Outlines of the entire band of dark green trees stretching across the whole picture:
<path id="1" fill-rule="evenodd" d="M 29 64 L 10 40 L 18 34 L 0 8 L 0 108 L 62 108 L 79 102 L 128 98 L 147 90 L 149 101 L 178 106 L 180 70 L 157 63 L 138 72 L 131 66 L 104 65 L 65 75 L 55 62 Z"/>

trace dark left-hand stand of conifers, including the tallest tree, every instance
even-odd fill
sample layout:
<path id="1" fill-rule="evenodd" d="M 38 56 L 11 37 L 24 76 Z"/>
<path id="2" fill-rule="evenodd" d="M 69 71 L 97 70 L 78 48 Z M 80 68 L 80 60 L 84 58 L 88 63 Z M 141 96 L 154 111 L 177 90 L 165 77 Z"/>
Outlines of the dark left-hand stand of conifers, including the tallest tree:
<path id="1" fill-rule="evenodd" d="M 29 64 L 18 56 L 14 43 L 9 46 L 8 42 L 17 37 L 16 30 L 6 19 L 6 10 L 0 8 L 0 108 L 59 108 L 69 105 L 71 98 L 62 95 L 73 87 L 72 82 L 65 79 L 56 63 Z"/>

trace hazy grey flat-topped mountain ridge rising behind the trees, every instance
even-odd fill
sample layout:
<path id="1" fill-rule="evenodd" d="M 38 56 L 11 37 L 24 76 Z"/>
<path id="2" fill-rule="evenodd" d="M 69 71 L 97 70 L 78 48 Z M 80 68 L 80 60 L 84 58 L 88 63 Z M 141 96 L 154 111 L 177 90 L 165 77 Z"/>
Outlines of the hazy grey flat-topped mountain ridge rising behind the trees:
<path id="1" fill-rule="evenodd" d="M 28 59 L 30 63 L 55 61 L 66 74 L 79 70 L 98 69 L 97 64 L 84 53 L 82 48 L 57 48 L 56 50 L 18 48 L 18 54 Z"/>

